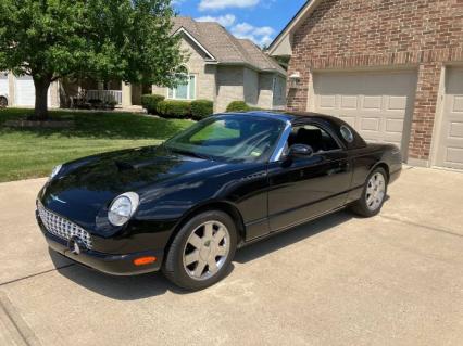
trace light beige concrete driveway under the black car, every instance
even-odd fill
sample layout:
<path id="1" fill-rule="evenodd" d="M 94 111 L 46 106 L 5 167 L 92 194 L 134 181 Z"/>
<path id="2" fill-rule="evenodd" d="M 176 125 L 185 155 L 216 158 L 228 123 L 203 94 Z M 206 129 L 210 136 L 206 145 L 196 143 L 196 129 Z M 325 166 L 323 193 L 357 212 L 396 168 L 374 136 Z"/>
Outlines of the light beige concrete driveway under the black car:
<path id="1" fill-rule="evenodd" d="M 337 213 L 241 249 L 198 293 L 50 256 L 43 179 L 0 184 L 0 345 L 461 345 L 463 174 L 410 168 L 381 214 Z"/>

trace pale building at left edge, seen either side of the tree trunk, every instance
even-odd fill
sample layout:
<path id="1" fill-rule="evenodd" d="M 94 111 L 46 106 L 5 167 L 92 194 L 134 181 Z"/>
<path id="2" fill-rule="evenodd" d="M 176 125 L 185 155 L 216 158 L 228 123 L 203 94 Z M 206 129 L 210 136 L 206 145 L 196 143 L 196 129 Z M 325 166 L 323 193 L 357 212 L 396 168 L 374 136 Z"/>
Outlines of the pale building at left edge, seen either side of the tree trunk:
<path id="1" fill-rule="evenodd" d="M 0 72 L 0 98 L 7 99 L 9 106 L 33 107 L 35 105 L 35 87 L 30 76 L 14 76 Z M 48 92 L 50 107 L 60 106 L 59 84 L 53 82 Z"/>

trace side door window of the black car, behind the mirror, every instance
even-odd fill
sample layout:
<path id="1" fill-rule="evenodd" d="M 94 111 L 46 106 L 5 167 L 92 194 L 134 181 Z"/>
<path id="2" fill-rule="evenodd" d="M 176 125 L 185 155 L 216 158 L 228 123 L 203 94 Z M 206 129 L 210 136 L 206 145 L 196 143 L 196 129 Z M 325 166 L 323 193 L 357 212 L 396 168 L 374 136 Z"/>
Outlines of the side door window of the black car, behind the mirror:
<path id="1" fill-rule="evenodd" d="M 324 129 L 315 125 L 295 127 L 288 139 L 288 148 L 293 144 L 305 144 L 313 149 L 314 153 L 338 150 L 339 145 Z"/>

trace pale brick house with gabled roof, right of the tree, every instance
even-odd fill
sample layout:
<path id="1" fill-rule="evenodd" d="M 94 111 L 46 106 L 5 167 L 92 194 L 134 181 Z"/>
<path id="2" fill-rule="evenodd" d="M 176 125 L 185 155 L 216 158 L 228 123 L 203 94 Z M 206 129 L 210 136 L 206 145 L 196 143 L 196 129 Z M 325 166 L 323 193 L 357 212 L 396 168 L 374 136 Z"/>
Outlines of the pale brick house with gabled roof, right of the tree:
<path id="1" fill-rule="evenodd" d="M 286 71 L 253 42 L 237 39 L 217 23 L 174 18 L 174 35 L 189 53 L 188 82 L 175 89 L 153 87 L 166 99 L 207 99 L 223 112 L 232 101 L 266 110 L 286 105 Z"/>

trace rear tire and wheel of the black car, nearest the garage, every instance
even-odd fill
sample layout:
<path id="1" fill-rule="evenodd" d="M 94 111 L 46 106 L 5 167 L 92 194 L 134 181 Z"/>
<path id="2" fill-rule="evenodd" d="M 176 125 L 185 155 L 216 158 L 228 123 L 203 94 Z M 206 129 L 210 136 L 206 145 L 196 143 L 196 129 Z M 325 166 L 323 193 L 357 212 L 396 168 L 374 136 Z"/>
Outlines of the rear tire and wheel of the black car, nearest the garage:
<path id="1" fill-rule="evenodd" d="M 352 205 L 352 212 L 363 217 L 377 215 L 386 200 L 387 184 L 386 170 L 374 169 L 366 178 L 361 198 Z"/>

